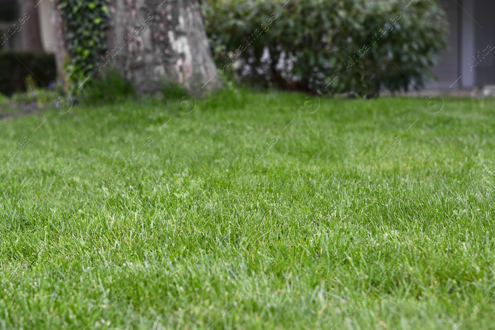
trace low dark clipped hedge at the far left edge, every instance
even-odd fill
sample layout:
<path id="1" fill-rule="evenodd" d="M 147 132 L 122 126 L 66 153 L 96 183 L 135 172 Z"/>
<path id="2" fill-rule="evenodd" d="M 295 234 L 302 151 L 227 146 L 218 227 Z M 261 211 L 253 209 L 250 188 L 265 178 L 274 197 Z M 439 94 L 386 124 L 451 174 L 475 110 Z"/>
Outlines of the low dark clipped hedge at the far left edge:
<path id="1" fill-rule="evenodd" d="M 34 75 L 34 83 L 40 88 L 48 87 L 56 78 L 55 57 L 44 52 L 2 52 L 0 66 L 0 93 L 5 95 L 26 91 L 28 76 Z"/>

